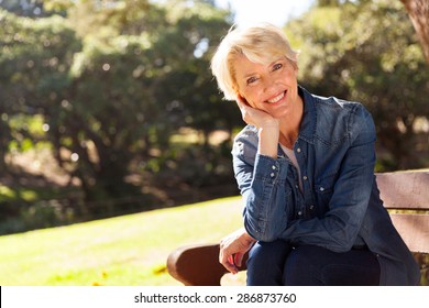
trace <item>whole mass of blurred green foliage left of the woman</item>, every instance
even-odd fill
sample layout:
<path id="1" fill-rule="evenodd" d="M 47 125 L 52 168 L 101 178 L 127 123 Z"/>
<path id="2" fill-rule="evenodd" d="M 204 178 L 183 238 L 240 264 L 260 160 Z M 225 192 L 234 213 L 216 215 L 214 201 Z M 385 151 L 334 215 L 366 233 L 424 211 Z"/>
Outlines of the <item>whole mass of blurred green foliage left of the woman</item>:
<path id="1" fill-rule="evenodd" d="M 205 135 L 232 131 L 234 122 L 222 111 L 231 114 L 228 110 L 237 108 L 220 102 L 208 72 L 208 51 L 229 28 L 228 12 L 211 1 L 174 1 L 174 10 L 167 10 L 170 3 L 131 0 L 45 4 L 62 13 L 22 18 L 0 11 L 4 167 L 8 152 L 48 142 L 86 202 L 148 195 L 127 177 L 141 173 L 142 182 L 148 183 L 160 169 L 174 174 L 180 162 L 164 166 L 170 153 L 189 161 L 170 148 L 174 132 L 183 127 Z M 35 122 L 38 129 L 31 129 Z M 219 152 L 207 142 L 206 150 Z M 197 160 L 213 165 L 220 160 L 217 155 Z M 150 162 L 158 167 L 153 169 Z M 132 169 L 135 165 L 143 168 Z M 188 168 L 194 183 L 210 174 L 205 169 L 198 175 L 200 167 Z M 231 175 L 229 168 L 222 170 L 220 176 Z M 151 198 L 142 204 L 151 205 Z"/>

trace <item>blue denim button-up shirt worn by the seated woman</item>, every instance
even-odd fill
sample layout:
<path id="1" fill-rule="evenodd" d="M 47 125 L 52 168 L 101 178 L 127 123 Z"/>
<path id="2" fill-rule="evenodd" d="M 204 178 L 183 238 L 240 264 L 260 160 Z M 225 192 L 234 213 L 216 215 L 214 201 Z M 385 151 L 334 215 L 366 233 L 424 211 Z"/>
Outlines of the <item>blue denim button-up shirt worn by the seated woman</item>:
<path id="1" fill-rule="evenodd" d="M 358 102 L 301 87 L 298 92 L 304 114 L 293 150 L 300 173 L 280 146 L 277 158 L 258 153 L 255 127 L 235 136 L 233 168 L 246 231 L 258 241 L 333 252 L 366 245 L 378 258 L 381 285 L 417 285 L 419 267 L 380 199 L 371 114 Z"/>

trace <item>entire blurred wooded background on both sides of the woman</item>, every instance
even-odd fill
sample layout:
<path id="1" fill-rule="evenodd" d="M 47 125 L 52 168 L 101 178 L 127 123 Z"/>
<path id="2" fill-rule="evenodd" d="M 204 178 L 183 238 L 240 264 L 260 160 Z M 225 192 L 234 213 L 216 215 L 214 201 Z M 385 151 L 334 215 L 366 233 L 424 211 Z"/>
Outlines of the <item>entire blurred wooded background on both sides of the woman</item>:
<path id="1" fill-rule="evenodd" d="M 249 2 L 0 0 L 0 234 L 237 196 L 244 123 L 209 62 Z M 376 172 L 429 167 L 429 66 L 403 1 L 282 2 L 301 4 L 263 16 L 300 50 L 299 82 L 372 112 Z"/>

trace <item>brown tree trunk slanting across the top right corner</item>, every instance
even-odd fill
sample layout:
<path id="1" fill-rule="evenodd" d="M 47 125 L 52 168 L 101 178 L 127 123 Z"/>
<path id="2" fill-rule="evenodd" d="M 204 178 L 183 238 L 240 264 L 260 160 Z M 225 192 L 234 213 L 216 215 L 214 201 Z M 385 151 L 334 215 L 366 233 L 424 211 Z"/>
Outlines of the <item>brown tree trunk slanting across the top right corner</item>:
<path id="1" fill-rule="evenodd" d="M 429 1 L 400 0 L 411 19 L 414 29 L 420 40 L 426 62 L 429 64 Z"/>

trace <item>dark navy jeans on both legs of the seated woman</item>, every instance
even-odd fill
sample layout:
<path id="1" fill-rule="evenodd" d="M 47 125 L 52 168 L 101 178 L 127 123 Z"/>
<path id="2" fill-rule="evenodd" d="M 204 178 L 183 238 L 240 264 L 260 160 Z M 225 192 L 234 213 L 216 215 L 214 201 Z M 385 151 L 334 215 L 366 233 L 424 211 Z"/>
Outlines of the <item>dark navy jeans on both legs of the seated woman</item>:
<path id="1" fill-rule="evenodd" d="M 372 286 L 380 283 L 377 257 L 367 249 L 336 253 L 285 241 L 257 242 L 248 260 L 249 286 Z"/>

